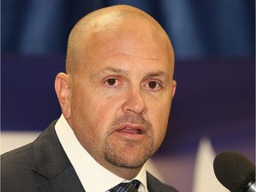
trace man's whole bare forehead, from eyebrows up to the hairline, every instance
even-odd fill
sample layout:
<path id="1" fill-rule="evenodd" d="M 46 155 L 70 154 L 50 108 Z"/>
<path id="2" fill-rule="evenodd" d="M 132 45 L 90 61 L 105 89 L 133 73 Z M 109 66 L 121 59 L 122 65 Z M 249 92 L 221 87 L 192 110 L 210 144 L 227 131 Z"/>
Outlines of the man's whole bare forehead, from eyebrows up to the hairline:
<path id="1" fill-rule="evenodd" d="M 84 63 L 79 66 L 85 68 L 85 73 L 113 66 L 155 71 L 161 68 L 172 73 L 172 44 L 164 32 L 148 20 L 129 18 L 116 20 L 114 24 L 95 21 L 81 40 L 83 46 L 76 54 L 79 63 Z"/>

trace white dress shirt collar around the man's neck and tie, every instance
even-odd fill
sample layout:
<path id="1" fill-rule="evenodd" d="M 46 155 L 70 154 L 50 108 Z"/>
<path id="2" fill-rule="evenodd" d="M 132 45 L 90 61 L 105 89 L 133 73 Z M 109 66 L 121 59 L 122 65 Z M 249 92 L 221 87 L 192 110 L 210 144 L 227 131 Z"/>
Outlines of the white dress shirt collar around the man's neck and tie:
<path id="1" fill-rule="evenodd" d="M 75 133 L 63 115 L 55 124 L 55 130 L 86 192 L 105 192 L 121 182 L 129 181 L 109 172 L 96 162 L 76 139 Z M 139 192 L 148 192 L 145 166 L 134 179 L 140 180 Z"/>

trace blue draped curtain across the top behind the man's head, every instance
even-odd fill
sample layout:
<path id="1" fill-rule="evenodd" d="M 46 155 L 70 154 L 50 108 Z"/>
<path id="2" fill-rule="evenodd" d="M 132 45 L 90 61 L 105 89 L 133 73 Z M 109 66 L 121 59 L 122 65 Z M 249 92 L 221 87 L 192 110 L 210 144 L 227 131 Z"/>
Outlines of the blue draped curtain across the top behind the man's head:
<path id="1" fill-rule="evenodd" d="M 2 0 L 2 52 L 64 54 L 85 13 L 132 4 L 156 18 L 178 58 L 253 57 L 254 0 Z"/>

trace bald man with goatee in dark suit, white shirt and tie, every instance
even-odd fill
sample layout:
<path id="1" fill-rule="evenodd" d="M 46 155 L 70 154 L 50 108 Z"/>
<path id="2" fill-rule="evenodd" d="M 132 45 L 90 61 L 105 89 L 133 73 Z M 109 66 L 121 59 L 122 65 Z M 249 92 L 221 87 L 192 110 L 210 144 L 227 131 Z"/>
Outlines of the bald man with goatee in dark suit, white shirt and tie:
<path id="1" fill-rule="evenodd" d="M 79 20 L 55 80 L 62 115 L 2 156 L 2 191 L 176 191 L 143 166 L 164 140 L 173 68 L 170 39 L 147 13 L 116 5 Z"/>

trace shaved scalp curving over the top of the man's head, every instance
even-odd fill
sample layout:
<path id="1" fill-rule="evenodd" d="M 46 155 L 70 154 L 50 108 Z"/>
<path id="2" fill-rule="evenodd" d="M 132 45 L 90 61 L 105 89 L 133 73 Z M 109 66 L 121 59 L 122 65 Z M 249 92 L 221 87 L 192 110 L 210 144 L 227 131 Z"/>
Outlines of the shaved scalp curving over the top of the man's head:
<path id="1" fill-rule="evenodd" d="M 81 55 L 86 56 L 84 46 L 92 46 L 89 42 L 93 41 L 93 34 L 100 36 L 116 36 L 116 31 L 120 26 L 129 22 L 140 22 L 140 28 L 151 28 L 155 30 L 156 41 L 163 41 L 165 46 L 169 46 L 170 54 L 174 59 L 171 41 L 159 23 L 148 13 L 129 5 L 115 5 L 91 12 L 79 20 L 72 28 L 68 37 L 68 52 L 66 70 L 68 74 L 76 71 L 81 64 Z M 140 28 L 138 33 L 140 33 Z M 131 34 L 132 35 L 132 34 Z M 92 51 L 93 47 L 91 47 Z M 93 51 L 92 51 L 93 52 Z M 86 60 L 84 60 L 86 62 Z M 82 62 L 83 64 L 83 62 Z"/>

